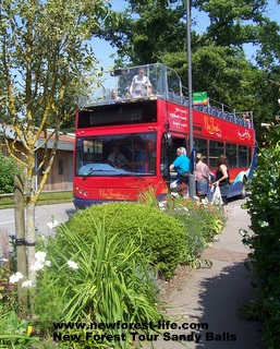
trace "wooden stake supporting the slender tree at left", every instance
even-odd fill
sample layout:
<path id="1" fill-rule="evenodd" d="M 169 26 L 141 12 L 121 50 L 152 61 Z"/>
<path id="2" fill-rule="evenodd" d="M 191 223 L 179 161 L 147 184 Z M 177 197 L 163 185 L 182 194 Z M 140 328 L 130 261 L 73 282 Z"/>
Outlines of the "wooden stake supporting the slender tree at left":
<path id="1" fill-rule="evenodd" d="M 22 282 L 26 280 L 27 260 L 25 248 L 25 218 L 24 218 L 24 185 L 20 174 L 14 177 L 14 218 L 15 218 L 15 253 L 16 253 L 16 272 L 22 273 L 24 279 L 17 282 L 17 301 L 22 316 L 27 314 L 28 292 Z"/>

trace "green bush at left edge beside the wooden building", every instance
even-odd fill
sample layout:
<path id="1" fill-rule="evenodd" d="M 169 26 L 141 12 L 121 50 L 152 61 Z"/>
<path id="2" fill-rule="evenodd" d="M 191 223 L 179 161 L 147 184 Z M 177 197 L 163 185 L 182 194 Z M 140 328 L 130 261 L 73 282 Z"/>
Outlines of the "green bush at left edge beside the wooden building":
<path id="1" fill-rule="evenodd" d="M 0 152 L 0 194 L 13 193 L 14 176 L 22 173 L 22 167 Z"/>

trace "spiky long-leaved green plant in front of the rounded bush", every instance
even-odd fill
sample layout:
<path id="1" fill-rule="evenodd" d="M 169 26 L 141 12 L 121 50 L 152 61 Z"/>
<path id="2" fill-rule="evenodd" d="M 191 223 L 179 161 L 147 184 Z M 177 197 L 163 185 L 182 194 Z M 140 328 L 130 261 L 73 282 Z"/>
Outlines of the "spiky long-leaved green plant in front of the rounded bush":
<path id="1" fill-rule="evenodd" d="M 37 327 L 53 329 L 53 322 L 61 321 L 105 324 L 159 321 L 153 269 L 137 246 L 141 231 L 127 240 L 120 233 L 109 234 L 105 224 L 93 216 L 92 224 L 95 231 L 90 242 L 84 233 L 65 226 L 60 227 L 56 239 L 48 240 L 46 251 L 51 265 L 39 270 L 34 298 Z M 83 333 L 74 329 L 72 334 Z M 123 329 L 106 332 L 121 335 Z M 129 339 L 127 336 L 126 344 Z"/>

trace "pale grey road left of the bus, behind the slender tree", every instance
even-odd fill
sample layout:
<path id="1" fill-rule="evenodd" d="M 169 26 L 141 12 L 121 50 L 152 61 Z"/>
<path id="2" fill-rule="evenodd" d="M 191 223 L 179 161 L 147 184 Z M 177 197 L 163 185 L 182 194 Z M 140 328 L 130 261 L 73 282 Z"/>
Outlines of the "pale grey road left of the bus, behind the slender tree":
<path id="1" fill-rule="evenodd" d="M 76 212 L 72 203 L 37 206 L 35 209 L 35 221 L 38 234 L 49 234 L 50 229 L 47 224 L 52 219 L 65 222 Z M 9 232 L 14 234 L 14 209 L 0 209 L 0 233 Z"/>

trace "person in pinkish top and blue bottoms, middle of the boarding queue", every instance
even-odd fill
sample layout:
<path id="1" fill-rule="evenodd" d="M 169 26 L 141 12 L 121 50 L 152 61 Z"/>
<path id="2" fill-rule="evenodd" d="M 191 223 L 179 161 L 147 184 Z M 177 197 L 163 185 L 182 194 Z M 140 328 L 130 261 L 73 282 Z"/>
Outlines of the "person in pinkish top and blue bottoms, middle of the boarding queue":
<path id="1" fill-rule="evenodd" d="M 195 165 L 195 181 L 196 181 L 196 195 L 199 198 L 205 198 L 208 193 L 209 185 L 209 168 L 203 161 L 203 154 L 196 154 L 196 165 Z"/>

